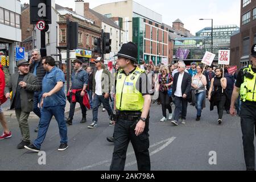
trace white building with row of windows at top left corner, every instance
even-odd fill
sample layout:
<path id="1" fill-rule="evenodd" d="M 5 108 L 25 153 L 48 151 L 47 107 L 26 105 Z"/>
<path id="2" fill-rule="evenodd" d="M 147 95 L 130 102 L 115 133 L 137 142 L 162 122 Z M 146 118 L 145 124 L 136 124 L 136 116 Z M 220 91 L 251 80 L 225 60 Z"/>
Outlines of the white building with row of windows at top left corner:
<path id="1" fill-rule="evenodd" d="M 14 73 L 15 68 L 15 46 L 22 42 L 22 31 L 20 29 L 20 1 L 0 1 L 0 44 L 5 46 L 5 54 L 9 56 L 9 71 Z"/>

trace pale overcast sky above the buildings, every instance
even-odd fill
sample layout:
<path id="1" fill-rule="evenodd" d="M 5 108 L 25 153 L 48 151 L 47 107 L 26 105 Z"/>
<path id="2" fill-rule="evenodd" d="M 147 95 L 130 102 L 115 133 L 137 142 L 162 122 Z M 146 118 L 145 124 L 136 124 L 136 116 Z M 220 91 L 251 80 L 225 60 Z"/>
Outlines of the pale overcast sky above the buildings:
<path id="1" fill-rule="evenodd" d="M 104 3 L 117 2 L 118 0 L 93 0 L 90 9 Z M 213 26 L 224 24 L 236 24 L 240 27 L 240 0 L 134 0 L 162 15 L 163 23 L 172 26 L 177 18 L 184 23 L 184 28 L 190 30 L 193 35 L 204 27 L 211 27 L 210 20 L 213 19 Z M 29 0 L 21 0 L 21 3 L 29 3 Z M 55 0 L 64 7 L 71 7 L 75 10 L 75 0 Z"/>

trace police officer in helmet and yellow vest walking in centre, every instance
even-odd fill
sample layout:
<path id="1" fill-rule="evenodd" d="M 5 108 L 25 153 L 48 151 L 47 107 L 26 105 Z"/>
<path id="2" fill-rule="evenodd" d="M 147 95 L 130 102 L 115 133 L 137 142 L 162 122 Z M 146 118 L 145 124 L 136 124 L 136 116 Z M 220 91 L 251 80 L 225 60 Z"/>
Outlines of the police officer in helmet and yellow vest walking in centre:
<path id="1" fill-rule="evenodd" d="M 150 82 L 144 70 L 135 67 L 138 47 L 123 44 L 117 53 L 120 70 L 115 80 L 114 152 L 110 171 L 123 171 L 131 140 L 139 171 L 150 171 L 148 123 L 151 103 Z"/>

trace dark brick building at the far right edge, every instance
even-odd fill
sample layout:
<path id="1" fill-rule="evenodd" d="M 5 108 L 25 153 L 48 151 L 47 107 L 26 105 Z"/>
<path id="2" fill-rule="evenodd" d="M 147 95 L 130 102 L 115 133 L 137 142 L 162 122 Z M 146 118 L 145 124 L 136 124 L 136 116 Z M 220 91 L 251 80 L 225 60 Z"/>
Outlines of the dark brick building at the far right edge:
<path id="1" fill-rule="evenodd" d="M 250 50 L 256 43 L 256 1 L 241 0 L 240 27 L 231 38 L 230 57 L 232 64 L 241 68 L 250 64 Z"/>

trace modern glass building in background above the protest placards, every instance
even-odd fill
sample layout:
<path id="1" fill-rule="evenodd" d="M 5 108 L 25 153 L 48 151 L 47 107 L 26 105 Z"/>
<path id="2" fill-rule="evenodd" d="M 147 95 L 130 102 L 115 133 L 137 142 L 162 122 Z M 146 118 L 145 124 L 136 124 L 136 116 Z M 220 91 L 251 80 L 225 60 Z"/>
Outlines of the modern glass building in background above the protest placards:
<path id="1" fill-rule="evenodd" d="M 213 53 L 216 54 L 214 64 L 218 62 L 218 50 L 230 49 L 230 37 L 233 32 L 240 30 L 236 25 L 223 25 L 213 27 Z M 175 39 L 174 55 L 178 48 L 189 49 L 189 55 L 185 63 L 189 65 L 192 61 L 201 62 L 206 51 L 211 52 L 212 27 L 205 27 L 196 32 L 192 38 Z"/>

